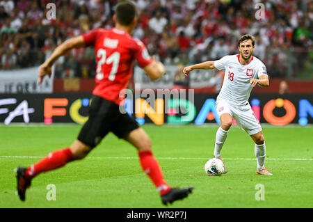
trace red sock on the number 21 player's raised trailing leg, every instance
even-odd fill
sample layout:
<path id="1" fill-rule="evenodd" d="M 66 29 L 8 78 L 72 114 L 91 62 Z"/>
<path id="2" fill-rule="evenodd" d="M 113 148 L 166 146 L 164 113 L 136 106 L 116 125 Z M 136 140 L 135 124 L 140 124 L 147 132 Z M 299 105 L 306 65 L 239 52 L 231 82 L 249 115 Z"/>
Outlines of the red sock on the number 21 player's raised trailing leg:
<path id="1" fill-rule="evenodd" d="M 64 166 L 67 162 L 72 160 L 73 155 L 70 148 L 66 148 L 64 150 L 56 150 L 49 153 L 44 159 L 41 159 L 37 163 L 27 168 L 26 177 L 32 179 L 39 173 L 54 170 L 56 168 Z"/>

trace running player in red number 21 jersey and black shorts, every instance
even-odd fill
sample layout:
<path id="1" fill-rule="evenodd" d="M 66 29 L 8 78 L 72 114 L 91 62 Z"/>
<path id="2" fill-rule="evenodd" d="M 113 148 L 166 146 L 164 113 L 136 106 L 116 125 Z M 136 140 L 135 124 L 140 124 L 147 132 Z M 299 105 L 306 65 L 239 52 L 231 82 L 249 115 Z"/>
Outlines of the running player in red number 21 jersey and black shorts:
<path id="1" fill-rule="evenodd" d="M 66 40 L 56 47 L 47 61 L 40 66 L 39 84 L 45 75 L 51 74 L 53 63 L 67 51 L 93 46 L 97 58 L 96 86 L 90 104 L 89 119 L 70 148 L 51 152 L 29 168 L 17 168 L 17 190 L 21 200 L 25 200 L 26 189 L 31 185 L 33 177 L 60 168 L 70 161 L 83 159 L 109 132 L 137 148 L 141 167 L 157 187 L 164 205 L 186 198 L 193 190 L 193 187 L 171 188 L 166 183 L 157 159 L 152 154 L 150 138 L 126 112 L 120 112 L 123 107 L 119 105 L 123 98 L 119 94 L 127 87 L 134 58 L 151 79 L 159 79 L 166 70 L 162 63 L 149 56 L 143 42 L 131 38 L 131 31 L 137 22 L 136 6 L 133 3 L 120 1 L 113 20 L 113 29 L 95 29 Z"/>

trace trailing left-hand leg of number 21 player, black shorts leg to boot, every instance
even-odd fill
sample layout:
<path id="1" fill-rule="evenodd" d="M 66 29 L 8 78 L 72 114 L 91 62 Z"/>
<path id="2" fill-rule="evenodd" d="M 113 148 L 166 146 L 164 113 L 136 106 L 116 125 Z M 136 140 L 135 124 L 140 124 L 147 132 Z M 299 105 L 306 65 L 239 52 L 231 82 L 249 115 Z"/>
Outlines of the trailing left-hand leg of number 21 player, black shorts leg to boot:
<path id="1" fill-rule="evenodd" d="M 109 127 L 113 122 L 110 106 L 110 102 L 94 96 L 89 109 L 88 121 L 81 128 L 77 140 L 69 148 L 51 152 L 29 168 L 17 168 L 17 191 L 21 200 L 25 200 L 26 189 L 31 185 L 33 177 L 42 172 L 65 166 L 70 161 L 83 159 L 100 143 L 109 132 Z M 105 125 L 103 124 L 104 120 Z"/>

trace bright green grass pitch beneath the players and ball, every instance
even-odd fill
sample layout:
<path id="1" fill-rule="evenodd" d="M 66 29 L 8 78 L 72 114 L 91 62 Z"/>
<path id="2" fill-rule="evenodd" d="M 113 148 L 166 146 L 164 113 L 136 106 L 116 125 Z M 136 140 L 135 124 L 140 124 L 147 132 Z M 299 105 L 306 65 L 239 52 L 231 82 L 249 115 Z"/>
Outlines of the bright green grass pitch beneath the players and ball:
<path id="1" fill-rule="evenodd" d="M 158 192 L 141 170 L 136 150 L 113 134 L 86 159 L 35 177 L 22 203 L 15 194 L 13 169 L 66 148 L 80 128 L 0 126 L 0 207 L 163 207 Z M 172 207 L 313 207 L 313 127 L 263 126 L 266 167 L 273 176 L 256 174 L 252 140 L 246 132 L 232 127 L 222 151 L 228 173 L 221 177 L 204 173 L 204 164 L 213 155 L 217 125 L 143 128 L 150 135 L 168 184 L 195 188 L 191 196 Z M 48 184 L 56 185 L 56 201 L 46 198 Z M 264 201 L 255 199 L 257 184 L 264 184 Z"/>

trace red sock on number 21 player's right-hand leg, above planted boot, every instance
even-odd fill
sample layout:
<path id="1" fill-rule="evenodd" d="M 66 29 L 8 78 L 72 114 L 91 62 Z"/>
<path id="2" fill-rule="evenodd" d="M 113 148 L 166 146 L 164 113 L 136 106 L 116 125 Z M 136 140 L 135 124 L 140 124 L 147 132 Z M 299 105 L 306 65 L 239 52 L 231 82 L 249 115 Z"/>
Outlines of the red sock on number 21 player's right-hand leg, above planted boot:
<path id="1" fill-rule="evenodd" d="M 138 152 L 138 154 L 143 171 L 145 171 L 145 173 L 147 173 L 147 175 L 150 177 L 160 194 L 163 195 L 168 193 L 168 191 L 170 191 L 170 186 L 166 184 L 159 163 L 157 159 L 154 158 L 152 152 L 143 151 Z"/>

